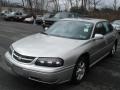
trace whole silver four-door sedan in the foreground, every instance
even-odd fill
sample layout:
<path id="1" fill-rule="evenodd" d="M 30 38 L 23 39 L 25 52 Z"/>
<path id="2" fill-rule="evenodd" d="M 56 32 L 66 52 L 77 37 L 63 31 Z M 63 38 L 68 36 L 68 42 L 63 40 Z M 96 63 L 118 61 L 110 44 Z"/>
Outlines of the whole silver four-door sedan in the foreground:
<path id="1" fill-rule="evenodd" d="M 17 75 L 60 84 L 79 83 L 86 71 L 116 53 L 118 33 L 103 19 L 64 19 L 47 31 L 14 42 L 5 58 Z"/>

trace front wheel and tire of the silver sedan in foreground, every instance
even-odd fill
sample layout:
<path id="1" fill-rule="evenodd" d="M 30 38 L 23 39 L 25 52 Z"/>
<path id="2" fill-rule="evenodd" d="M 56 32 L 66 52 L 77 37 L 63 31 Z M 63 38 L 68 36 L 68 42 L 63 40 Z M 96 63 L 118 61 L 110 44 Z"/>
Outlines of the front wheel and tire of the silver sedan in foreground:
<path id="1" fill-rule="evenodd" d="M 85 78 L 86 71 L 87 71 L 86 60 L 84 57 L 81 57 L 74 67 L 72 83 L 79 84 Z"/>

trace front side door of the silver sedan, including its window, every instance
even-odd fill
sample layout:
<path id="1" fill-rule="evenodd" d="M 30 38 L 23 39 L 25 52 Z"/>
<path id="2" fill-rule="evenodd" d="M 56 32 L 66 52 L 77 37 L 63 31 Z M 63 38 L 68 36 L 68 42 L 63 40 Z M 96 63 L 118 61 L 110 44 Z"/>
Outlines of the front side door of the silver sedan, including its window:
<path id="1" fill-rule="evenodd" d="M 92 49 L 91 63 L 97 62 L 105 55 L 105 50 L 104 50 L 106 47 L 106 40 L 104 39 L 105 33 L 106 30 L 102 22 L 97 23 L 92 36 L 93 47 L 91 48 Z M 96 39 L 95 34 L 101 34 L 103 35 L 103 38 Z"/>

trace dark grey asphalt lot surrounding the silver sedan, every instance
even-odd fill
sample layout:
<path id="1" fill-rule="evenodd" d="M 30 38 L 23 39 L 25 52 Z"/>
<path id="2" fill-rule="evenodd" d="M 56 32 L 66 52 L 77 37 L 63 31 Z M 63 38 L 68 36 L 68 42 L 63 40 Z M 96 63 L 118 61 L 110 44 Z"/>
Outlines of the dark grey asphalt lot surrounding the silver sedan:
<path id="1" fill-rule="evenodd" d="M 93 66 L 78 85 L 47 85 L 15 76 L 4 62 L 4 53 L 14 41 L 42 30 L 37 25 L 0 21 L 0 90 L 120 90 L 120 44 L 114 57 Z"/>

